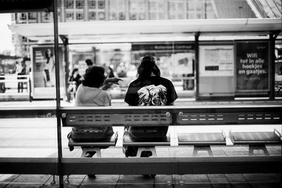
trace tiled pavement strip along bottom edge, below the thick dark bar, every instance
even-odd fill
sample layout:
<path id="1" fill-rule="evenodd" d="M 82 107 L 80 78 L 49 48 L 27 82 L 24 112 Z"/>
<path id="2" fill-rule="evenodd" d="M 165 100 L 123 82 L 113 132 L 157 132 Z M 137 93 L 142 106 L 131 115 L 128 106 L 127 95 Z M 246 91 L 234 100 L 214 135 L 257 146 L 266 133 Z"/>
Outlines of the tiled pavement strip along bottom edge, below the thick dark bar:
<path id="1" fill-rule="evenodd" d="M 59 187 L 52 185 L 51 175 L 0 175 L 1 188 Z M 65 177 L 66 180 L 66 177 Z M 154 179 L 142 175 L 71 175 L 64 187 L 281 187 L 281 174 L 208 174 L 157 175 Z"/>

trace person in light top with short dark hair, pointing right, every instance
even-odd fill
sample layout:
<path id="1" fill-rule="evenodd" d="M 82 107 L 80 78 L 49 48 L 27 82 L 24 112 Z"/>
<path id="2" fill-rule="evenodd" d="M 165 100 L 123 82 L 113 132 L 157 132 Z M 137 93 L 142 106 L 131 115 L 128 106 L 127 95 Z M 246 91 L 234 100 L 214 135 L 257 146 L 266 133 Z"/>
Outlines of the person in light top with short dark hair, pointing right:
<path id="1" fill-rule="evenodd" d="M 111 80 L 105 80 L 104 73 L 104 68 L 99 66 L 87 68 L 84 80 L 82 80 L 82 84 L 79 85 L 75 95 L 75 106 L 111 106 L 111 97 L 108 92 L 102 89 L 102 86 L 105 84 L 105 81 L 118 84 L 118 81 L 121 79 L 114 77 Z M 71 138 L 75 142 L 95 142 L 99 139 L 111 138 L 112 134 L 114 134 L 114 131 L 111 126 L 73 127 Z M 102 149 L 106 148 L 102 147 Z M 95 151 L 89 151 L 85 154 L 85 157 L 92 157 L 94 154 Z"/>

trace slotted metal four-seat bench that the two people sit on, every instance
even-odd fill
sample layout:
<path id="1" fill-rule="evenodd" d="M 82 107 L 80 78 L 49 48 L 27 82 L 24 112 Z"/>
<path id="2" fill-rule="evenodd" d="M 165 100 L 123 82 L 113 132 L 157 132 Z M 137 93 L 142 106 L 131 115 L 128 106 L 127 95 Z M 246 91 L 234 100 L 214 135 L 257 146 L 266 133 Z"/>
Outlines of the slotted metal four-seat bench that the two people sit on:
<path id="1" fill-rule="evenodd" d="M 129 108 L 130 109 L 130 108 Z M 240 112 L 228 107 L 220 108 L 170 108 L 168 111 L 164 108 L 157 108 L 148 113 L 145 108 L 138 111 L 124 113 L 122 111 L 109 111 L 109 113 L 91 113 L 90 111 L 75 111 L 75 113 L 63 113 L 63 127 L 87 127 L 87 126 L 165 126 L 165 125 L 267 125 L 280 124 L 282 115 L 279 108 L 274 111 L 266 111 L 264 108 L 247 106 L 240 108 Z M 149 108 L 148 108 L 149 110 Z M 78 113 L 80 112 L 80 113 Z M 250 135 L 252 135 L 250 137 Z M 281 144 L 281 134 L 274 132 L 232 132 L 228 133 L 233 145 L 249 145 L 250 155 L 255 149 L 262 149 L 267 155 L 265 144 Z M 114 139 L 112 144 L 114 146 Z M 95 145 L 94 145 L 95 144 Z M 101 143 L 99 143 L 101 144 Z M 88 144 L 89 145 L 89 144 Z M 90 143 L 91 145 L 91 143 Z M 97 143 L 92 143 L 97 146 Z M 123 134 L 123 146 L 138 146 L 137 156 L 141 156 L 142 151 L 151 151 L 152 156 L 157 156 L 155 146 L 170 146 L 170 137 L 166 139 L 144 141 L 136 140 L 130 137 L 127 132 Z M 193 156 L 197 156 L 197 151 L 207 151 L 209 156 L 213 156 L 210 146 L 226 146 L 226 134 L 222 132 L 189 132 L 178 133 L 178 145 L 194 146 Z M 78 146 L 71 143 L 69 146 Z M 81 143 L 80 143 L 80 146 Z M 83 144 L 85 146 L 85 144 Z"/>

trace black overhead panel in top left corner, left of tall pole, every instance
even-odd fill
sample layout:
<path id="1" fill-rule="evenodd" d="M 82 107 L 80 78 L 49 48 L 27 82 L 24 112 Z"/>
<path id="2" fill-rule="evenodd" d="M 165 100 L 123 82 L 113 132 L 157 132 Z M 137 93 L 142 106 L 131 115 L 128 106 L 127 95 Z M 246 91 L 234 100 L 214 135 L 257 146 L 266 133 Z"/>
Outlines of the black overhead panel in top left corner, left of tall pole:
<path id="1" fill-rule="evenodd" d="M 54 0 L 0 0 L 0 13 L 53 11 Z"/>

